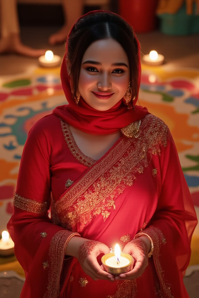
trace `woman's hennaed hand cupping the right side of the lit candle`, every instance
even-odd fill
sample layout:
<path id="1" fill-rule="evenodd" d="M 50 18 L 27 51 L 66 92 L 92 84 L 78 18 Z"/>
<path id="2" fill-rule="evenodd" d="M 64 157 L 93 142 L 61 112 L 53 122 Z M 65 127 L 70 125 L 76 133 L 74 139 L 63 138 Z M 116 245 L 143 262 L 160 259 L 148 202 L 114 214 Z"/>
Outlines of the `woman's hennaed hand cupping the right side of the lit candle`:
<path id="1" fill-rule="evenodd" d="M 130 267 L 130 271 L 115 277 L 115 280 L 133 280 L 140 277 L 145 268 L 148 266 L 148 253 L 151 243 L 146 236 L 133 239 L 128 242 L 123 252 L 130 254 L 134 258 L 134 263 Z"/>

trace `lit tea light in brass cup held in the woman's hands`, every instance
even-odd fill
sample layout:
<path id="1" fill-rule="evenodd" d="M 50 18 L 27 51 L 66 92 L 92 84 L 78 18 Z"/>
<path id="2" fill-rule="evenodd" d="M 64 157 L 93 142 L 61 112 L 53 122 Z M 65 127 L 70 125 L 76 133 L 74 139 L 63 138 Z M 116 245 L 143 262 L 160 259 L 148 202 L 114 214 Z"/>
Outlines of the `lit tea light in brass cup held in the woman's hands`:
<path id="1" fill-rule="evenodd" d="M 129 271 L 132 261 L 132 256 L 121 252 L 118 244 L 115 245 L 115 252 L 105 254 L 101 258 L 105 270 L 112 274 L 121 274 Z"/>

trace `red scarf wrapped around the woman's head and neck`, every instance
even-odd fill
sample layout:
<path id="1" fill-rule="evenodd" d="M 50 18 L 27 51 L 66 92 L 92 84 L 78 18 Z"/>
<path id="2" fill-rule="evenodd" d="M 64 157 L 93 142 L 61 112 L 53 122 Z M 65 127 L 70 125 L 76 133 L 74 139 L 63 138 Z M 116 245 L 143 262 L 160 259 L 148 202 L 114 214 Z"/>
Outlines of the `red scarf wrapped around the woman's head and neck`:
<path id="1" fill-rule="evenodd" d="M 99 13 L 104 11 L 95 10 L 87 13 L 86 15 L 91 13 L 96 13 L 96 12 Z M 82 17 L 86 15 L 83 15 Z M 69 36 L 70 36 L 70 33 L 68 35 L 68 38 Z M 67 72 L 66 58 L 67 58 L 68 38 L 66 43 L 66 52 L 61 65 L 61 83 L 62 83 L 62 87 L 65 93 L 68 105 L 62 105 L 55 108 L 53 110 L 54 115 L 60 117 L 62 120 L 64 120 L 64 122 L 67 122 L 69 125 L 81 131 L 84 131 L 86 133 L 105 135 L 105 134 L 112 134 L 120 130 L 121 128 L 129 125 L 130 123 L 143 118 L 146 114 L 148 114 L 147 108 L 145 107 L 143 108 L 140 105 L 136 105 L 138 96 L 133 101 L 134 108 L 128 108 L 128 106 L 124 104 L 122 99 L 107 111 L 95 110 L 90 105 L 88 105 L 83 100 L 82 97 L 80 97 L 79 103 L 77 105 L 72 98 L 72 92 L 70 88 L 70 76 L 68 75 L 68 72 Z M 139 52 L 139 65 L 138 65 L 139 83 L 138 84 L 140 86 L 140 77 L 141 77 L 140 44 L 137 38 L 136 38 L 136 41 L 138 43 L 138 52 Z"/>

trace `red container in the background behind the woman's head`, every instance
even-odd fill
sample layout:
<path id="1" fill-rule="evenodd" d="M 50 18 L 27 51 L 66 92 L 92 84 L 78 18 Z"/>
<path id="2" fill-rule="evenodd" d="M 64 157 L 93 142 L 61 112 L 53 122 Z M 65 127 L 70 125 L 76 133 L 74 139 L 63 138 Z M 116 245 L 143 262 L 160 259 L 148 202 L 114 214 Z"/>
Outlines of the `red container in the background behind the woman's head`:
<path id="1" fill-rule="evenodd" d="M 119 0 L 119 14 L 131 24 L 135 32 L 149 32 L 156 28 L 158 0 Z"/>

